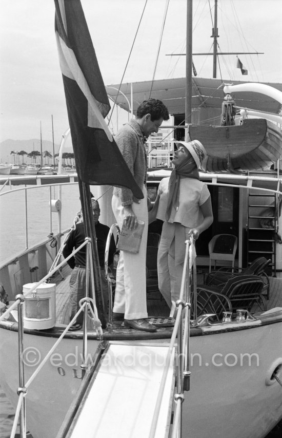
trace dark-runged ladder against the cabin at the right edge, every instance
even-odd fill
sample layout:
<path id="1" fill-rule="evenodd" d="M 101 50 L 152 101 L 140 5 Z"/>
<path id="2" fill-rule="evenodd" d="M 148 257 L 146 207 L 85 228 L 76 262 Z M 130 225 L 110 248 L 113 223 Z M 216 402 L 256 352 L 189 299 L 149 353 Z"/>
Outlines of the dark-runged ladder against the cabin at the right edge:
<path id="1" fill-rule="evenodd" d="M 252 173 L 254 175 L 254 173 Z M 264 173 L 264 176 L 267 174 Z M 276 175 L 276 174 L 275 174 Z M 271 174 L 273 176 L 273 174 Z M 261 187 L 279 190 L 279 180 L 270 181 Z M 256 184 L 259 187 L 259 184 Z M 247 262 L 250 264 L 259 256 L 271 259 L 268 274 L 276 277 L 276 242 L 278 231 L 278 195 L 258 191 L 252 186 L 248 189 L 247 213 Z"/>

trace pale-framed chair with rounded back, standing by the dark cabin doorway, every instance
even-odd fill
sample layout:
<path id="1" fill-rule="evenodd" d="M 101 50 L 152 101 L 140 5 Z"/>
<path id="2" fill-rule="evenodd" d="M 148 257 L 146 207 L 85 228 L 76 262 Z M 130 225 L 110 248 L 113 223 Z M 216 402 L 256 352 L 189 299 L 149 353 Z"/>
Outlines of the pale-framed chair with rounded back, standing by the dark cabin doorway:
<path id="1" fill-rule="evenodd" d="M 233 234 L 216 234 L 209 242 L 210 269 L 211 262 L 214 261 L 214 269 L 217 260 L 229 260 L 234 268 L 235 254 L 237 250 L 238 238 Z"/>

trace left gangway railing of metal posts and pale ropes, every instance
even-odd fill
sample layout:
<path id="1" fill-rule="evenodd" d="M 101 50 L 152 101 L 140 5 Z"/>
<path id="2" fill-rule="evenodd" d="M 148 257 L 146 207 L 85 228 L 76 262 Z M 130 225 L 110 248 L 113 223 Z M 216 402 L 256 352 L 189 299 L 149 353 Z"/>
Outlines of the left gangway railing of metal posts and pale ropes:
<path id="1" fill-rule="evenodd" d="M 70 327 L 75 322 L 77 316 L 84 311 L 84 329 L 83 329 L 83 363 L 80 366 L 82 369 L 82 376 L 85 375 L 86 370 L 88 369 L 88 354 L 87 354 L 87 336 L 88 336 L 88 329 L 87 329 L 87 317 L 88 313 L 90 312 L 92 315 L 92 320 L 94 323 L 94 329 L 96 330 L 97 338 L 100 341 L 103 341 L 103 331 L 102 331 L 102 325 L 98 318 L 97 308 L 95 305 L 95 300 L 93 298 L 90 298 L 89 296 L 86 296 L 82 298 L 79 301 L 79 310 L 74 315 L 74 317 L 71 319 L 71 321 L 68 323 L 67 327 L 64 329 L 62 334 L 58 337 L 54 345 L 51 347 L 51 349 L 48 351 L 46 356 L 43 358 L 41 363 L 38 365 L 36 370 L 33 372 L 33 374 L 30 376 L 27 382 L 25 382 L 25 372 L 24 372 L 24 318 L 23 318 L 23 304 L 25 301 L 25 298 L 30 295 L 32 292 L 34 292 L 39 285 L 46 282 L 51 276 L 53 276 L 57 271 L 59 271 L 62 266 L 67 263 L 67 261 L 73 257 L 74 254 L 76 254 L 78 251 L 80 251 L 85 245 L 86 246 L 86 269 L 88 272 L 88 269 L 90 269 L 90 272 L 93 271 L 93 264 L 92 264 L 92 251 L 90 249 L 91 245 L 91 239 L 86 237 L 85 241 L 75 249 L 72 254 L 70 254 L 68 257 L 65 258 L 61 263 L 57 264 L 57 266 L 51 270 L 42 280 L 38 281 L 37 283 L 33 284 L 32 287 L 24 292 L 23 294 L 18 294 L 15 298 L 15 301 L 11 304 L 11 306 L 0 316 L 0 321 L 6 319 L 9 317 L 9 314 L 12 310 L 15 310 L 17 308 L 18 312 L 18 364 L 19 364 L 19 387 L 17 389 L 17 394 L 19 396 L 18 403 L 15 411 L 15 417 L 13 422 L 13 427 L 11 431 L 10 438 L 14 438 L 17 422 L 19 418 L 19 424 L 20 424 L 20 436 L 21 438 L 26 438 L 26 404 L 25 404 L 25 396 L 27 394 L 27 390 L 31 383 L 33 382 L 34 378 L 37 376 L 37 374 L 41 371 L 41 369 L 46 364 L 49 357 L 52 355 L 52 353 L 57 348 L 58 344 L 62 341 Z M 92 272 L 93 275 L 93 272 Z M 94 290 L 94 283 L 93 283 L 93 276 L 92 276 L 92 290 Z M 88 291 L 88 276 L 86 276 L 86 291 Z M 94 295 L 94 294 L 93 294 Z"/>

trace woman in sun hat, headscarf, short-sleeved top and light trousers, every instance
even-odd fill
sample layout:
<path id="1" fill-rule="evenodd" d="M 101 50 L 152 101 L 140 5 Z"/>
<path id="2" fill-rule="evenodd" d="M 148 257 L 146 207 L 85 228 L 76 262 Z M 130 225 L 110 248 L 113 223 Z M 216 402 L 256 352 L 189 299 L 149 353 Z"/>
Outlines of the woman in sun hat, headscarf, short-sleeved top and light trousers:
<path id="1" fill-rule="evenodd" d="M 198 140 L 177 142 L 169 178 L 160 181 L 150 222 L 164 221 L 158 247 L 158 285 L 173 316 L 179 298 L 185 256 L 185 240 L 193 233 L 207 230 L 213 222 L 211 197 L 208 187 L 199 180 L 198 168 L 207 153 Z"/>

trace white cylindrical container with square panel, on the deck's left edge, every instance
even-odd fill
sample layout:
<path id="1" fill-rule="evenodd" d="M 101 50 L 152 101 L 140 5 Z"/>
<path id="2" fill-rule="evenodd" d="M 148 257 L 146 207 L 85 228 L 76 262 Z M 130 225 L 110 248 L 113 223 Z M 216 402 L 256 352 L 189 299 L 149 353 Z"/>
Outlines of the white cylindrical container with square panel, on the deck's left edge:
<path id="1" fill-rule="evenodd" d="M 36 283 L 23 285 L 23 293 Z M 24 301 L 24 327 L 27 329 L 51 329 L 56 323 L 56 284 L 42 283 Z"/>

